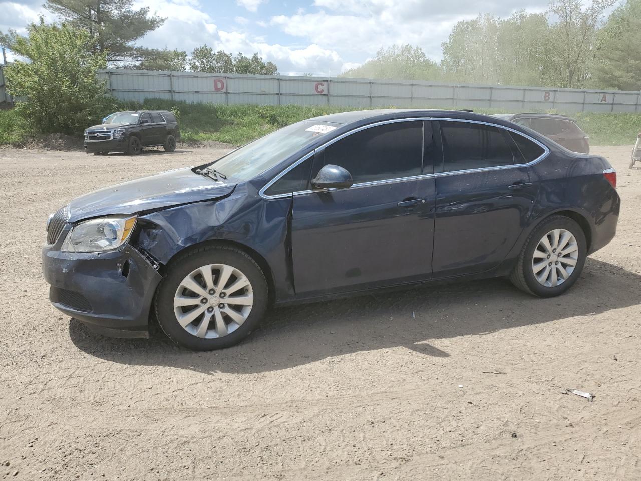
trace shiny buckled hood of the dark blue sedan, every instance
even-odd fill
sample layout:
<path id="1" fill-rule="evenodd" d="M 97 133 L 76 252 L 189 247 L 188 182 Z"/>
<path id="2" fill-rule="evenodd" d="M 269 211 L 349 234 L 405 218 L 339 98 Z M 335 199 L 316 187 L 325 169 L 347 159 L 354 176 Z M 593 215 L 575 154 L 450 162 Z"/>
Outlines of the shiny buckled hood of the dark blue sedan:
<path id="1" fill-rule="evenodd" d="M 235 187 L 235 184 L 194 174 L 189 168 L 176 169 L 106 187 L 74 199 L 69 203 L 69 222 L 215 200 L 228 196 Z"/>

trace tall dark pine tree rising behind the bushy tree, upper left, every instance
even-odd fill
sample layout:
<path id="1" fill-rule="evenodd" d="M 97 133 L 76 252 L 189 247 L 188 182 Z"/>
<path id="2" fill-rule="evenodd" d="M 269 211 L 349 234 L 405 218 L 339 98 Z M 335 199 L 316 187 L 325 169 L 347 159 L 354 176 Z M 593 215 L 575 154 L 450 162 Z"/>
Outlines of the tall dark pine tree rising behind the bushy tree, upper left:
<path id="1" fill-rule="evenodd" d="M 136 47 L 136 40 L 165 21 L 157 15 L 149 16 L 149 7 L 134 10 L 133 0 L 47 0 L 44 6 L 87 31 L 89 51 L 106 54 L 110 62 L 145 60 L 146 49 Z"/>

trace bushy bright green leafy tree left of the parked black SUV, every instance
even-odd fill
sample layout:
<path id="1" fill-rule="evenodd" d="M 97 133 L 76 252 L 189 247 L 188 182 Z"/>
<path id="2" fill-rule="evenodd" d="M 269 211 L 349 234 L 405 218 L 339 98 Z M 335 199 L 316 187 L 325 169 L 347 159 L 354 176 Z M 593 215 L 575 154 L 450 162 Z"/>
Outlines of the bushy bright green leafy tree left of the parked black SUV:
<path id="1" fill-rule="evenodd" d="M 82 133 L 117 108 L 96 71 L 106 66 L 106 53 L 90 53 L 89 33 L 69 24 L 31 24 L 26 37 L 10 48 L 29 62 L 17 60 L 5 69 L 7 88 L 21 97 L 16 108 L 42 133 Z"/>

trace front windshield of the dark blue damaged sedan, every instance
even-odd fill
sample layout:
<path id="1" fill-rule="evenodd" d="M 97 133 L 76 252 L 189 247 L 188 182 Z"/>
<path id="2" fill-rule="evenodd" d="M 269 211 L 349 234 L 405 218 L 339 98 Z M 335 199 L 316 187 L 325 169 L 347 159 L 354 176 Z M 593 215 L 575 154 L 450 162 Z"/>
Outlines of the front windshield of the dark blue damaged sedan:
<path id="1" fill-rule="evenodd" d="M 210 167 L 227 176 L 230 181 L 247 181 L 271 169 L 319 137 L 328 135 L 335 128 L 337 124 L 329 122 L 297 122 L 254 140 L 210 164 Z"/>

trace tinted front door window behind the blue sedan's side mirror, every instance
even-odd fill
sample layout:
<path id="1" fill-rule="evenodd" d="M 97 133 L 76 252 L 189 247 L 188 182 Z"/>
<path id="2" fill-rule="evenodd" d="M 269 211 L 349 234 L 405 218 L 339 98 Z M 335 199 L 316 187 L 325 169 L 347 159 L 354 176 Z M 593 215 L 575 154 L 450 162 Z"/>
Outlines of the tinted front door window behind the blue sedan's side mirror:
<path id="1" fill-rule="evenodd" d="M 340 165 L 354 183 L 420 175 L 423 122 L 394 122 L 367 128 L 331 144 L 322 165 Z M 315 165 L 315 174 L 322 165 Z"/>

